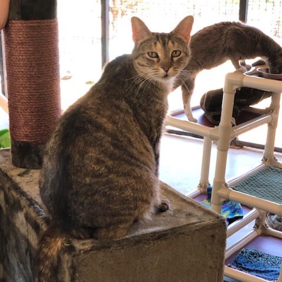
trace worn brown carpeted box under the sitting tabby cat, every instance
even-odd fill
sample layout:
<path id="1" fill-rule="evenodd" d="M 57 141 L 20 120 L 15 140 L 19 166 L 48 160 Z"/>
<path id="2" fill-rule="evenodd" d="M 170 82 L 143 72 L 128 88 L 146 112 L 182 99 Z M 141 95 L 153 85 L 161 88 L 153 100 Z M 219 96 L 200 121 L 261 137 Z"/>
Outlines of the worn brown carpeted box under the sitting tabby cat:
<path id="1" fill-rule="evenodd" d="M 13 167 L 9 150 L 0 150 L 0 281 L 37 280 L 36 246 L 47 225 L 38 175 Z M 224 218 L 165 184 L 162 191 L 172 210 L 134 224 L 125 238 L 71 240 L 60 253 L 61 281 L 222 281 Z"/>

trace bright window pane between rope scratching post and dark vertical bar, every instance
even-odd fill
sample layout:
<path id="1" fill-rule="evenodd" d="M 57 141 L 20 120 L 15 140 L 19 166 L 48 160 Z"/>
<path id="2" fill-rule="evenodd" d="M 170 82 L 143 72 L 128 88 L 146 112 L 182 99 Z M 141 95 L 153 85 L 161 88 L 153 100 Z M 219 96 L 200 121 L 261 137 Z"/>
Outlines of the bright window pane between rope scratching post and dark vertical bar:
<path id="1" fill-rule="evenodd" d="M 101 1 L 57 1 L 62 109 L 101 76 Z"/>

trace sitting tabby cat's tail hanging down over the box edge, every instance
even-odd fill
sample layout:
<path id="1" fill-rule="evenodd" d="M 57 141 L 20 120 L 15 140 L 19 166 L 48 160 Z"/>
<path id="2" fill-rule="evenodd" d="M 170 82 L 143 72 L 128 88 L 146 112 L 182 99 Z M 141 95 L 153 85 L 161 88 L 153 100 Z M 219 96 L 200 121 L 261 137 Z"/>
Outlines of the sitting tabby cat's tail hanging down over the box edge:
<path id="1" fill-rule="evenodd" d="M 38 282 L 60 282 L 58 254 L 66 240 L 59 227 L 49 227 L 43 233 L 37 251 Z"/>

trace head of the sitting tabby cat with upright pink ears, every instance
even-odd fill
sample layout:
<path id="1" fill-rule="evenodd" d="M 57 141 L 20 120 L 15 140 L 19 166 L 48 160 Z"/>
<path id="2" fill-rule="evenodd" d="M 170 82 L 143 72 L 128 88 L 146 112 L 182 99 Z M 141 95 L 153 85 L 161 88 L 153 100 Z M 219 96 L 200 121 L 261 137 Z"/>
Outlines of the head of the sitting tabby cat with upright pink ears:
<path id="1" fill-rule="evenodd" d="M 190 32 L 193 17 L 188 16 L 170 33 L 154 33 L 139 18 L 132 18 L 135 47 L 134 67 L 147 80 L 173 81 L 190 60 Z"/>

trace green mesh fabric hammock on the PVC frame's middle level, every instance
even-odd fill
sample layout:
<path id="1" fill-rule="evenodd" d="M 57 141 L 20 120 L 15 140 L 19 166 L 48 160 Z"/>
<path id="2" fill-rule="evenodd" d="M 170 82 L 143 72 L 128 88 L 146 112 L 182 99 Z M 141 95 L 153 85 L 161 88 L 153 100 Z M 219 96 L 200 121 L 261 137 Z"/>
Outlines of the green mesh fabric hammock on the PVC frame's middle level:
<path id="1" fill-rule="evenodd" d="M 233 190 L 282 204 L 282 169 L 267 166 L 246 177 L 234 186 Z"/>

